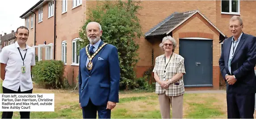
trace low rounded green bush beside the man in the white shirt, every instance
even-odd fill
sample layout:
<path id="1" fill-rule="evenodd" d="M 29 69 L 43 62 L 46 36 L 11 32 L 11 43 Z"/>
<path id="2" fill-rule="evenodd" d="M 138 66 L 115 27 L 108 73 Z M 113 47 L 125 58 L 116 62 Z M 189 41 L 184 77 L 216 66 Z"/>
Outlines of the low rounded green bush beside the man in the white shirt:
<path id="1" fill-rule="evenodd" d="M 45 88 L 61 88 L 65 65 L 59 60 L 41 60 L 32 69 L 34 82 Z"/>

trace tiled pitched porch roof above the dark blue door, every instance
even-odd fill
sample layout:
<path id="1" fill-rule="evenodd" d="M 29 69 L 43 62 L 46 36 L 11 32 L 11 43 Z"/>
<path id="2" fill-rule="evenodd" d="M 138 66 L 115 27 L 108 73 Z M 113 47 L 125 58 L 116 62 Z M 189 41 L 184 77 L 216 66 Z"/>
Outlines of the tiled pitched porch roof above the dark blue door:
<path id="1" fill-rule="evenodd" d="M 184 23 L 194 14 L 199 13 L 206 21 L 208 21 L 222 36 L 224 35 L 213 23 L 210 22 L 206 18 L 206 16 L 202 15 L 198 10 L 187 11 L 187 12 L 174 12 L 172 15 L 168 16 L 165 20 L 157 24 L 154 28 L 151 28 L 148 32 L 145 33 L 145 36 L 158 36 L 164 35 L 172 32 L 175 28 L 180 26 L 180 24 Z"/>

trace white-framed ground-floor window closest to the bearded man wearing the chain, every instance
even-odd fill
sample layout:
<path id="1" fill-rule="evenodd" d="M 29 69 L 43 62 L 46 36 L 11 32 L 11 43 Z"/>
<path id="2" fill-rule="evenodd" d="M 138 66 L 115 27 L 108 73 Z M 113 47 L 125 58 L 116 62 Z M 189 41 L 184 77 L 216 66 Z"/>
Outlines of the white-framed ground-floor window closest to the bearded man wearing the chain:
<path id="1" fill-rule="evenodd" d="M 77 43 L 77 40 L 81 40 L 80 38 L 75 38 L 72 40 L 72 65 L 79 65 L 79 53 L 77 52 L 77 49 L 79 48 L 79 44 Z"/>

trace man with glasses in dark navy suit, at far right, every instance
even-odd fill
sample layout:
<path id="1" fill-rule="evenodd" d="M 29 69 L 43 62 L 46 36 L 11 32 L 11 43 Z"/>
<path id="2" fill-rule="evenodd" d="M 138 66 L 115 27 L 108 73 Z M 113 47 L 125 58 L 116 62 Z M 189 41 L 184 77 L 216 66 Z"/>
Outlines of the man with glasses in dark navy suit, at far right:
<path id="1" fill-rule="evenodd" d="M 256 37 L 242 32 L 243 21 L 233 16 L 232 36 L 224 40 L 219 67 L 227 84 L 227 118 L 253 118 L 256 76 Z"/>

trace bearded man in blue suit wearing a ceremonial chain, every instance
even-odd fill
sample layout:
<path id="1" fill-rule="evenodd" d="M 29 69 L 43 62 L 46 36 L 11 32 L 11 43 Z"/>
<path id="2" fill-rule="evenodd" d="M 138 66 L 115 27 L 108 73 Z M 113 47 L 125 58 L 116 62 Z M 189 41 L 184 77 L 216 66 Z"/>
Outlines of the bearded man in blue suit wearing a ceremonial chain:
<path id="1" fill-rule="evenodd" d="M 86 27 L 90 41 L 80 50 L 79 104 L 83 118 L 110 119 L 111 109 L 118 103 L 120 66 L 118 50 L 101 41 L 102 29 L 97 22 Z"/>

